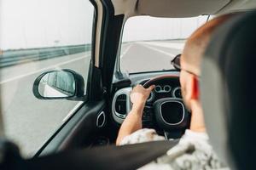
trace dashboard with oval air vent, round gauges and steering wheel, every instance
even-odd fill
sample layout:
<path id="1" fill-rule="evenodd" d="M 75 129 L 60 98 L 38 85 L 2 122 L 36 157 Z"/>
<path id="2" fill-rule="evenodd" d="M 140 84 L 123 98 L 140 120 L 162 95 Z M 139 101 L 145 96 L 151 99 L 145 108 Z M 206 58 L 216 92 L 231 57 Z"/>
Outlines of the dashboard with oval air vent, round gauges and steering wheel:
<path id="1" fill-rule="evenodd" d="M 179 73 L 143 73 L 131 75 L 131 85 L 118 88 L 113 94 L 112 116 L 121 124 L 131 111 L 131 90 L 137 84 L 155 85 L 143 110 L 143 127 L 162 129 L 164 132 L 181 132 L 189 126 L 189 111 L 182 100 Z"/>

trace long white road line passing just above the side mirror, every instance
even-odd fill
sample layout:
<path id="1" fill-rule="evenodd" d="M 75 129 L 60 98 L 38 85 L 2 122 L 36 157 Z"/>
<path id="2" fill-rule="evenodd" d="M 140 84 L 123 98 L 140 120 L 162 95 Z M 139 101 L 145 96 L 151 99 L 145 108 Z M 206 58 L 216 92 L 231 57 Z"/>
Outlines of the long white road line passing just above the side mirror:
<path id="1" fill-rule="evenodd" d="M 23 78 L 23 77 L 27 77 L 27 76 L 36 74 L 36 73 L 38 73 L 38 72 L 42 72 L 42 71 L 46 71 L 46 70 L 49 70 L 49 69 L 53 69 L 53 68 L 58 67 L 58 66 L 60 66 L 60 65 L 66 65 L 66 64 L 68 64 L 68 63 L 72 63 L 72 62 L 77 61 L 77 60 L 79 60 L 79 59 L 85 59 L 85 58 L 87 58 L 87 57 L 89 57 L 89 56 L 90 56 L 90 54 L 85 55 L 85 56 L 82 56 L 82 57 L 79 57 L 79 58 L 76 58 L 76 59 L 70 59 L 70 60 L 61 62 L 61 63 L 59 63 L 59 64 L 57 64 L 57 65 L 50 65 L 49 67 L 46 67 L 46 68 L 44 68 L 44 69 L 40 69 L 40 70 L 38 70 L 38 71 L 32 71 L 32 72 L 30 72 L 30 73 L 23 74 L 23 75 L 20 75 L 20 76 L 18 76 L 18 77 L 12 77 L 12 78 L 9 78 L 9 79 L 7 79 L 7 80 L 3 80 L 2 82 L 0 82 L 0 84 L 4 84 L 4 83 L 6 83 L 6 82 L 12 82 L 12 81 L 15 81 L 16 79 L 20 79 L 20 78 Z"/>

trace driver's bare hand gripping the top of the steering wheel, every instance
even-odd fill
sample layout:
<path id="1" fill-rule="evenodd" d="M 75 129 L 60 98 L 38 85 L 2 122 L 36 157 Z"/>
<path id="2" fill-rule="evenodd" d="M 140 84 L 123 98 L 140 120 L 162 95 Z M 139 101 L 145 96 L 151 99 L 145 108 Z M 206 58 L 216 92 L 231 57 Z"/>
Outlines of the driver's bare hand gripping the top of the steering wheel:
<path id="1" fill-rule="evenodd" d="M 132 107 L 134 109 L 142 109 L 154 87 L 154 85 L 151 85 L 149 88 L 144 88 L 143 85 L 139 84 L 133 88 L 130 95 Z"/>

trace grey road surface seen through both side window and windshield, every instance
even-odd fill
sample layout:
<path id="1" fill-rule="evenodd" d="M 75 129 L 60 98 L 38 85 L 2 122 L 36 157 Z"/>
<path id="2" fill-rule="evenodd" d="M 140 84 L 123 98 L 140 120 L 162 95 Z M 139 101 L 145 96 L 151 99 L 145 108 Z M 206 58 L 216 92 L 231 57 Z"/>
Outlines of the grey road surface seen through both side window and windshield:
<path id="1" fill-rule="evenodd" d="M 126 43 L 122 48 L 121 67 L 129 72 L 171 69 L 171 59 L 181 53 L 182 48 L 183 42 Z M 87 52 L 0 70 L 5 132 L 9 139 L 20 145 L 24 156 L 35 154 L 79 103 L 65 99 L 36 99 L 32 94 L 36 77 L 51 69 L 68 68 L 82 74 L 86 82 L 89 62 Z"/>

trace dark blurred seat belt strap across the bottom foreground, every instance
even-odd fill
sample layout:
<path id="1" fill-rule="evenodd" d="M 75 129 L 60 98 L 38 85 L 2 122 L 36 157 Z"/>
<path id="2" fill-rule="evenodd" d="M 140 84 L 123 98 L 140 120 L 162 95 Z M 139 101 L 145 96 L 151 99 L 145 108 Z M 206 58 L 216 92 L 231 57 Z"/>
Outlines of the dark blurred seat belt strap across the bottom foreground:
<path id="1" fill-rule="evenodd" d="M 137 169 L 165 155 L 166 151 L 175 146 L 177 142 L 177 140 L 154 141 L 141 144 L 108 145 L 92 149 L 69 150 L 31 160 L 9 161 L 11 163 L 9 165 L 5 164 L 3 167 L 9 170 Z"/>

